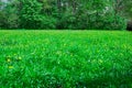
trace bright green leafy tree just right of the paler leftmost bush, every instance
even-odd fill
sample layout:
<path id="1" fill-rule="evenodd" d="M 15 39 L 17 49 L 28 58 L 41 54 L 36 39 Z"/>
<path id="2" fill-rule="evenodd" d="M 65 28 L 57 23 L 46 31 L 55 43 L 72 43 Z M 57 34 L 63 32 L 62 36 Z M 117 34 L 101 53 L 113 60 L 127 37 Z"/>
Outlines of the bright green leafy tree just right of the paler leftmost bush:
<path id="1" fill-rule="evenodd" d="M 21 26 L 24 29 L 37 29 L 42 19 L 40 14 L 42 4 L 36 0 L 21 0 Z"/>

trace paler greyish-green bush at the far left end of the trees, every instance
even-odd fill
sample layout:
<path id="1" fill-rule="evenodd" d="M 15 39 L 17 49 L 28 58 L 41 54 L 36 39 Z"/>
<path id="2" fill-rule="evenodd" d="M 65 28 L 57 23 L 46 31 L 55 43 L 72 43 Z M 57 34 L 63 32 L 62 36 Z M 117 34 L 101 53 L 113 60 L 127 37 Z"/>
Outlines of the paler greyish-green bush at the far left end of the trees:
<path id="1" fill-rule="evenodd" d="M 4 29 L 16 29 L 19 28 L 19 16 L 16 9 L 12 8 L 13 2 L 2 3 L 0 10 L 0 28 Z"/>

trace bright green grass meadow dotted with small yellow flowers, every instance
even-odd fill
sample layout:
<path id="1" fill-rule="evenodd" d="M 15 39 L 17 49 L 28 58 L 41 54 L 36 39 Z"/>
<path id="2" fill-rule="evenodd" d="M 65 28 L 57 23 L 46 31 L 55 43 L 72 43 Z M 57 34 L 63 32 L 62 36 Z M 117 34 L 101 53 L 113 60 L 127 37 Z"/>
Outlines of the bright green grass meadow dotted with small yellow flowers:
<path id="1" fill-rule="evenodd" d="M 0 88 L 132 88 L 132 33 L 0 31 Z"/>

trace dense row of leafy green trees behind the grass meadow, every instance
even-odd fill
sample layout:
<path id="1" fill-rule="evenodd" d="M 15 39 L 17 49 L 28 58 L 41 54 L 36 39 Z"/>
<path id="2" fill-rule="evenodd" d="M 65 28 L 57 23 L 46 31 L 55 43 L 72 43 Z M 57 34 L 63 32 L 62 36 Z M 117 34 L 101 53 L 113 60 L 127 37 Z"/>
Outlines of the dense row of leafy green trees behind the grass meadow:
<path id="1" fill-rule="evenodd" d="M 0 29 L 125 30 L 131 0 L 0 0 Z"/>

